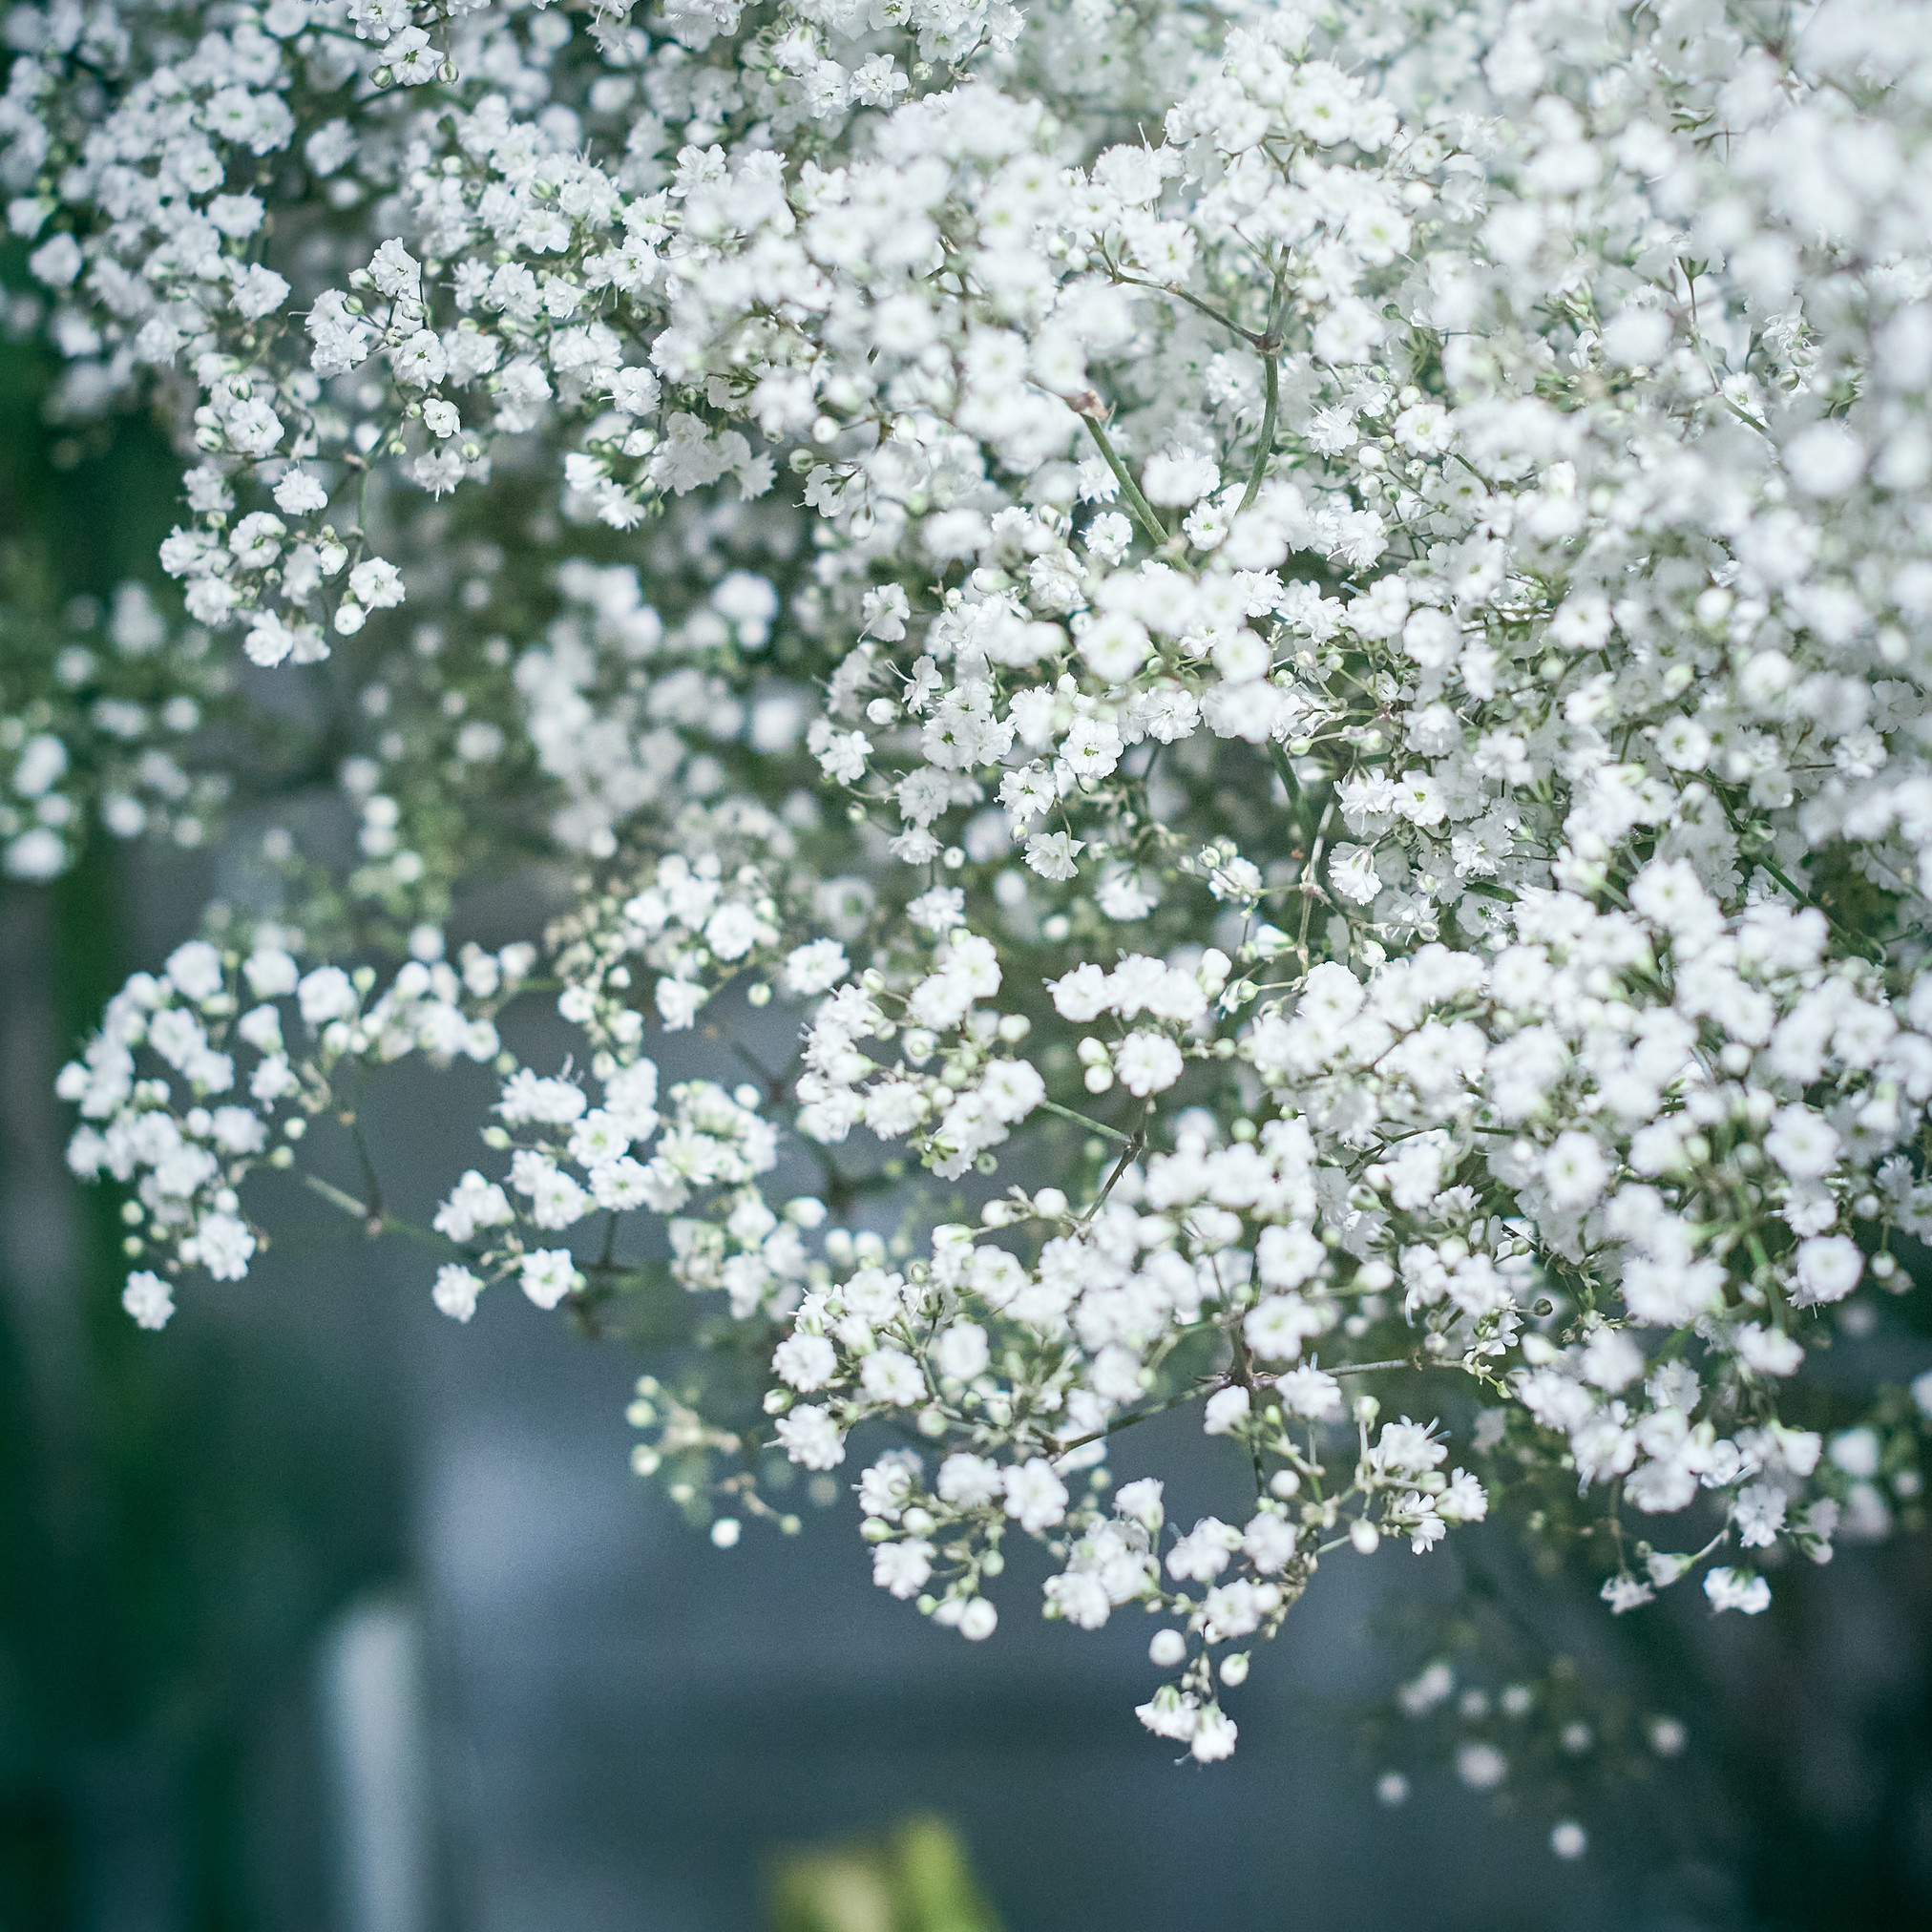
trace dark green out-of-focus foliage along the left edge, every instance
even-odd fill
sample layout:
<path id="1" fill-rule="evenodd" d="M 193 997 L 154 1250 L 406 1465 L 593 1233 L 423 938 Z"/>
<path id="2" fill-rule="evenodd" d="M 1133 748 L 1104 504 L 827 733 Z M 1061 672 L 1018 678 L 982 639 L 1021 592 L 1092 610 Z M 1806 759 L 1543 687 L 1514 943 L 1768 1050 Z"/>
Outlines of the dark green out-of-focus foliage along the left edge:
<path id="1" fill-rule="evenodd" d="M 54 620 L 153 580 L 176 487 L 141 419 L 46 427 L 50 373 L 0 342 L 0 578 L 15 612 Z M 164 1841 L 170 1928 L 292 1922 L 267 1909 L 263 1868 L 313 1847 L 269 1816 L 292 1795 L 263 1791 L 267 1731 L 276 1714 L 299 1727 L 334 1607 L 400 1563 L 384 1395 L 298 1335 L 216 1323 L 156 1349 L 129 1327 L 118 1202 L 25 1146 L 60 1057 L 149 943 L 129 931 L 129 867 L 97 840 L 54 883 L 0 895 L 0 1086 L 21 1115 L 0 1190 L 10 1215 L 60 1221 L 68 1254 L 39 1289 L 0 1256 L 0 1932 L 79 1932 L 126 1876 L 112 1866 L 153 1849 L 116 1839 L 129 1818 Z M 44 1130 L 58 1144 L 52 1103 Z M 298 1893 L 315 1876 L 288 1874 Z"/>

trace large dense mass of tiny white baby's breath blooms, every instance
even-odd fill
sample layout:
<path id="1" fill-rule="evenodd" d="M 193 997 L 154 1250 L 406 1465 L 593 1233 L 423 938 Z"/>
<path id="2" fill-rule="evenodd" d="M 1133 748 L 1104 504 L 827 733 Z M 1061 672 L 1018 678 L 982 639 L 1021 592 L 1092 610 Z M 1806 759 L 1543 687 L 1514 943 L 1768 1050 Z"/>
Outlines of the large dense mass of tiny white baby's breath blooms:
<path id="1" fill-rule="evenodd" d="M 1493 1490 L 1580 1486 L 1617 1611 L 1889 1528 L 1932 1379 L 1806 1368 L 1932 1236 L 1922 8 L 10 37 L 60 406 L 182 384 L 189 618 L 390 680 L 363 896 L 458 879 L 437 786 L 512 746 L 578 877 L 562 1070 L 493 1024 L 535 954 L 435 922 L 381 997 L 245 922 L 129 985 L 64 1092 L 137 1320 L 245 1269 L 340 1063 L 491 1061 L 439 1306 L 723 1296 L 757 1395 L 649 1383 L 641 1468 L 796 1526 L 790 1466 L 898 1426 L 875 1580 L 983 1638 L 1043 1544 L 1047 1615 L 1159 1615 L 1140 1716 L 1200 1760 L 1323 1555 Z M 543 609 L 384 726 L 493 504 Z M 796 1057 L 659 1095 L 682 1030 Z M 1196 1401 L 1248 1495 L 1177 1534 L 1111 1461 Z"/>

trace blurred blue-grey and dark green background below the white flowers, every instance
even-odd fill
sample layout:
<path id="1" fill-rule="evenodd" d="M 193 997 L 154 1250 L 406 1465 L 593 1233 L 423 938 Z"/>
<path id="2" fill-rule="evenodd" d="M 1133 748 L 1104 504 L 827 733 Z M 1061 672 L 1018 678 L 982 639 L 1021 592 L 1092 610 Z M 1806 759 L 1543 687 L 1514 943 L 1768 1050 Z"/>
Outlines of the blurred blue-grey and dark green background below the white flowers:
<path id="1" fill-rule="evenodd" d="M 46 381 L 0 344 L 6 570 L 104 599 L 155 576 L 172 460 L 137 419 L 46 425 Z M 1043 1625 L 1014 1565 L 966 1646 L 869 1586 L 850 1497 L 713 1549 L 628 1472 L 632 1385 L 674 1362 L 508 1294 L 456 1327 L 421 1256 L 294 1188 L 245 1283 L 137 1331 L 52 1078 L 224 864 L 97 842 L 0 885 L 0 1932 L 1932 1924 L 1922 1538 L 1785 1571 L 1752 1623 L 1611 1623 L 1509 1524 L 1385 1546 L 1321 1577 L 1204 1770 L 1132 1718 L 1144 1619 Z M 367 1117 L 406 1213 L 450 1119 L 406 1076 Z M 1161 1428 L 1192 1520 L 1215 1472 Z"/>

